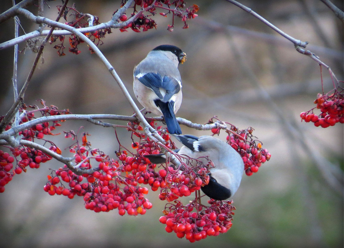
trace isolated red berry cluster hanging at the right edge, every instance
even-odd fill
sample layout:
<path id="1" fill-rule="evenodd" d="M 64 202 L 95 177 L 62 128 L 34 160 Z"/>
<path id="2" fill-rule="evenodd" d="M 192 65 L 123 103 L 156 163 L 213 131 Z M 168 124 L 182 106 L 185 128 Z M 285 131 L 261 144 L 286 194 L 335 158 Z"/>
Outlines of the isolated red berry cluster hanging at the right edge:
<path id="1" fill-rule="evenodd" d="M 313 122 L 314 126 L 323 128 L 334 126 L 338 122 L 344 123 L 344 99 L 342 93 L 335 91 L 331 95 L 318 94 L 314 103 L 316 107 L 300 114 L 301 120 Z M 320 109 L 321 113 L 319 115 L 313 113 L 315 108 Z"/>

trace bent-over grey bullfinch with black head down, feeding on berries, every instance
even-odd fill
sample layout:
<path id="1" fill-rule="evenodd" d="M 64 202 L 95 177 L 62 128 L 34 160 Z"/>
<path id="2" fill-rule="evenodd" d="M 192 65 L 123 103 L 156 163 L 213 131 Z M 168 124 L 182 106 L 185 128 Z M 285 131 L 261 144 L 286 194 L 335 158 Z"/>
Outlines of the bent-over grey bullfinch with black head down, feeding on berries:
<path id="1" fill-rule="evenodd" d="M 204 194 L 215 200 L 225 200 L 232 197 L 239 188 L 244 172 L 244 162 L 241 156 L 228 143 L 213 137 L 194 135 L 174 135 L 184 146 L 178 154 L 184 154 L 192 158 L 198 158 L 207 163 L 208 158 L 213 162 L 214 168 L 210 168 L 209 183 L 202 186 Z M 164 154 L 146 155 L 154 163 L 164 163 Z M 186 158 L 185 158 L 186 159 Z M 193 165 L 195 165 L 194 162 Z"/>

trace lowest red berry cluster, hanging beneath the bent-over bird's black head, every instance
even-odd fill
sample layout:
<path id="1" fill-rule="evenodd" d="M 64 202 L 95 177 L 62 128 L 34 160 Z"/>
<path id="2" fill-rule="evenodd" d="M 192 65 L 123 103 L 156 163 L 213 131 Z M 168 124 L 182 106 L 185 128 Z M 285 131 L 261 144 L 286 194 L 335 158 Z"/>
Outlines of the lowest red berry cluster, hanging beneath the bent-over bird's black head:
<path id="1" fill-rule="evenodd" d="M 166 224 L 166 232 L 174 231 L 178 238 L 185 237 L 190 242 L 195 242 L 207 236 L 226 233 L 232 226 L 232 215 L 235 210 L 232 201 L 210 199 L 209 207 L 198 204 L 196 200 L 186 206 L 180 201 L 175 203 L 165 208 L 165 215 L 161 216 L 159 221 Z"/>

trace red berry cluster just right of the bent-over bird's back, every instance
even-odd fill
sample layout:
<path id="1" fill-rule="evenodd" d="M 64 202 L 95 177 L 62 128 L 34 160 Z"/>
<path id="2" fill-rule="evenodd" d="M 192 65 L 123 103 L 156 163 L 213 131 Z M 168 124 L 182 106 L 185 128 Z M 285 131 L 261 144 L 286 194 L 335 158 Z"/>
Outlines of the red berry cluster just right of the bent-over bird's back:
<path id="1" fill-rule="evenodd" d="M 255 136 L 252 135 L 254 129 L 249 127 L 245 130 L 238 130 L 237 127 L 230 123 L 230 131 L 228 132 L 227 142 L 232 146 L 241 156 L 244 161 L 245 173 L 251 176 L 253 173 L 258 172 L 259 167 L 269 161 L 271 154 L 267 149 L 262 148 L 262 144 L 256 141 Z M 218 134 L 219 128 L 213 128 L 213 134 Z"/>

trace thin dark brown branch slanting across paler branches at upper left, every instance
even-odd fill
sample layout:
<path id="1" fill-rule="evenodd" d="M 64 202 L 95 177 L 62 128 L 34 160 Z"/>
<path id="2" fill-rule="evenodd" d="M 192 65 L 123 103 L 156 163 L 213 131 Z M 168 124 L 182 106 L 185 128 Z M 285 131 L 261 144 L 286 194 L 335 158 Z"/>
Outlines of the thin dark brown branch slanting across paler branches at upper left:
<path id="1" fill-rule="evenodd" d="M 60 20 L 62 14 L 63 14 L 63 11 L 64 9 L 66 8 L 67 6 L 67 3 L 68 3 L 68 0 L 65 0 L 64 4 L 63 4 L 63 7 L 60 9 L 60 12 L 58 13 L 58 16 L 56 18 L 56 22 L 58 20 Z M 18 9 L 21 9 L 21 8 L 18 8 Z M 18 11 L 17 9 L 17 11 Z M 18 96 L 17 96 L 17 99 L 15 99 L 14 103 L 12 104 L 11 106 L 11 109 L 6 113 L 5 117 L 3 118 L 3 120 L 1 121 L 0 123 L 0 132 L 3 130 L 3 128 L 12 120 L 13 116 L 15 113 L 18 112 L 19 110 L 19 107 L 20 107 L 20 104 L 22 103 L 23 101 L 23 98 L 24 98 L 24 93 L 26 91 L 26 89 L 28 88 L 29 86 L 29 83 L 31 81 L 31 78 L 32 78 L 32 75 L 36 69 L 36 66 L 37 66 L 37 63 L 39 61 L 39 59 L 41 58 L 41 55 L 43 53 L 43 49 L 44 49 L 44 46 L 46 44 L 46 42 L 49 40 L 52 32 L 53 32 L 54 28 L 51 28 L 50 29 L 50 32 L 48 33 L 48 35 L 45 37 L 44 41 L 42 42 L 41 46 L 40 46 L 40 49 L 39 51 L 37 52 L 36 54 L 36 58 L 35 58 L 35 61 L 33 62 L 32 64 L 32 67 L 31 67 L 31 70 L 29 72 L 29 75 L 28 77 L 26 78 L 26 81 L 22 87 L 22 89 L 20 90 Z"/>

